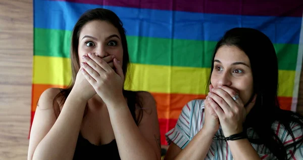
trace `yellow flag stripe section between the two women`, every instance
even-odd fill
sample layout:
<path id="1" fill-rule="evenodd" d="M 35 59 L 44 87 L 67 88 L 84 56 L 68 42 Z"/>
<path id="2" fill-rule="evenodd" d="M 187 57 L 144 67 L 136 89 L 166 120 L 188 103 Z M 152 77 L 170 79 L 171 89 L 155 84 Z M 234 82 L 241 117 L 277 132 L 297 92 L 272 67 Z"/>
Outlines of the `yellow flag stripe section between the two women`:
<path id="1" fill-rule="evenodd" d="M 131 64 L 125 88 L 153 93 L 206 94 L 210 68 Z"/>

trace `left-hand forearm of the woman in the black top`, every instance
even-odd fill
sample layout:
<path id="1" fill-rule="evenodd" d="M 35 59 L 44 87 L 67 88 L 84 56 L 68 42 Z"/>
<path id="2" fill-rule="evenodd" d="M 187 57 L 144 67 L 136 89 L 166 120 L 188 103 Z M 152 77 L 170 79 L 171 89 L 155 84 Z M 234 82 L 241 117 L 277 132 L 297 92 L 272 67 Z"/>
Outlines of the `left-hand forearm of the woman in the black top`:
<path id="1" fill-rule="evenodd" d="M 37 145 L 32 159 L 72 159 L 86 101 L 71 94 L 54 126 Z"/>

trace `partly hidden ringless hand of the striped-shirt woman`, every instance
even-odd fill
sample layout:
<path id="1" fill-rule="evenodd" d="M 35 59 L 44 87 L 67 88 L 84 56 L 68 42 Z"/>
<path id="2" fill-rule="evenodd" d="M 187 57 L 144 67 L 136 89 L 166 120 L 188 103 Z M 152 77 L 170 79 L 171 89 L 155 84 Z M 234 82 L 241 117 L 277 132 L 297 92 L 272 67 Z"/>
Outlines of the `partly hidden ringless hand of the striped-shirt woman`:
<path id="1" fill-rule="evenodd" d="M 210 85 L 210 91 L 214 88 L 213 85 Z M 212 106 L 209 104 L 210 99 L 208 99 L 208 96 L 206 97 L 206 100 L 204 101 L 204 113 L 205 113 L 205 122 L 203 125 L 203 128 L 208 130 L 211 133 L 216 133 L 219 130 L 220 121 L 217 113 L 212 108 Z"/>

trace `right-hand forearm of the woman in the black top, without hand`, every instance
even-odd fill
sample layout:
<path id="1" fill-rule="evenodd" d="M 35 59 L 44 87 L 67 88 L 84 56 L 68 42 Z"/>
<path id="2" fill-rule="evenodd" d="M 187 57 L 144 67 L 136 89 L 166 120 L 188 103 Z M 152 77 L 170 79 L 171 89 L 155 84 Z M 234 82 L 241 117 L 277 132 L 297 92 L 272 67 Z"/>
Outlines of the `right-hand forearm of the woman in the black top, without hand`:
<path id="1" fill-rule="evenodd" d="M 158 159 L 140 133 L 125 101 L 109 105 L 108 110 L 121 159 Z"/>

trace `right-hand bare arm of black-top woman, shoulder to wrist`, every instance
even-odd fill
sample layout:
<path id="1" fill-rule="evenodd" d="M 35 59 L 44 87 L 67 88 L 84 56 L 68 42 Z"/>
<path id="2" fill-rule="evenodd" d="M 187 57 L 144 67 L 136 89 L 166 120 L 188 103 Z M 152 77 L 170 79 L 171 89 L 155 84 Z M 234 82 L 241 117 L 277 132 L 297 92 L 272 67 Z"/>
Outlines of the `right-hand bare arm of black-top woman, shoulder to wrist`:
<path id="1" fill-rule="evenodd" d="M 125 100 L 108 106 L 119 154 L 121 159 L 161 159 L 160 131 L 155 100 L 147 92 L 140 92 L 140 95 L 144 110 L 138 127 Z"/>

